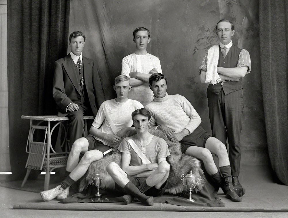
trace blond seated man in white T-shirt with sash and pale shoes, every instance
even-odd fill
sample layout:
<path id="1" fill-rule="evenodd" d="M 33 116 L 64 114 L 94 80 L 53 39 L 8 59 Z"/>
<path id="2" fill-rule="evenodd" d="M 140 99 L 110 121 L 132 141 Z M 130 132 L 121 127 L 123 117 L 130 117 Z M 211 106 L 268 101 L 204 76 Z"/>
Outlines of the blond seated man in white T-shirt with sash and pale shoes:
<path id="1" fill-rule="evenodd" d="M 131 113 L 143 108 L 143 105 L 128 98 L 132 87 L 127 76 L 116 77 L 113 88 L 117 98 L 102 103 L 90 128 L 90 135 L 77 139 L 73 143 L 65 172 L 67 177 L 55 188 L 40 192 L 44 201 L 56 197 L 57 200 L 67 198 L 69 187 L 85 174 L 89 165 L 110 153 L 121 139 L 122 132 L 126 128 L 131 128 Z M 80 153 L 84 153 L 84 156 L 78 163 Z"/>

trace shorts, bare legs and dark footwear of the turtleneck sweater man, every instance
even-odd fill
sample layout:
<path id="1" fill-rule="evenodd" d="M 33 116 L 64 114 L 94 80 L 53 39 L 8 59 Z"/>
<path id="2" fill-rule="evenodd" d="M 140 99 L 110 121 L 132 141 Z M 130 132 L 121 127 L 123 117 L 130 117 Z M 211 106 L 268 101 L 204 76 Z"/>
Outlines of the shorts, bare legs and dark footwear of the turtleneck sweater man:
<path id="1" fill-rule="evenodd" d="M 208 133 L 192 133 L 185 136 L 180 143 L 182 153 L 203 161 L 207 173 L 222 188 L 224 194 L 226 194 L 226 198 L 234 202 L 242 201 L 242 198 L 233 189 L 229 157 L 226 147 L 221 141 L 211 137 Z M 212 154 L 218 156 L 220 172 L 213 160 Z"/>

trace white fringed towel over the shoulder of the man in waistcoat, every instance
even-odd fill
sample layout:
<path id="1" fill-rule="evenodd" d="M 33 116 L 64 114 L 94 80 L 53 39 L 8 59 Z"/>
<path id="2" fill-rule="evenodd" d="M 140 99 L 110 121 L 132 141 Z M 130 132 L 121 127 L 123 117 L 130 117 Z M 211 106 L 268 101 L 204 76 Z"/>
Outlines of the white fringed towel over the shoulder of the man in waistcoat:
<path id="1" fill-rule="evenodd" d="M 219 45 L 212 46 L 208 50 L 207 55 L 207 72 L 205 83 L 211 83 L 213 85 L 221 81 L 217 73 L 217 65 L 219 59 Z"/>

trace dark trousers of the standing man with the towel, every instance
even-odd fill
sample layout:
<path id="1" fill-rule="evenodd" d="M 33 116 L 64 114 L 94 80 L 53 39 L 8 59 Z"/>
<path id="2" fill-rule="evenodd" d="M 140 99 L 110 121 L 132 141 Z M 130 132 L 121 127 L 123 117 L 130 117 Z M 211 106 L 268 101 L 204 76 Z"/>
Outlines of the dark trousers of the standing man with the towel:
<path id="1" fill-rule="evenodd" d="M 223 89 L 218 95 L 207 90 L 207 97 L 212 136 L 224 143 L 226 148 L 228 139 L 231 173 L 232 176 L 239 176 L 241 115 L 244 107 L 242 89 L 227 95 Z"/>

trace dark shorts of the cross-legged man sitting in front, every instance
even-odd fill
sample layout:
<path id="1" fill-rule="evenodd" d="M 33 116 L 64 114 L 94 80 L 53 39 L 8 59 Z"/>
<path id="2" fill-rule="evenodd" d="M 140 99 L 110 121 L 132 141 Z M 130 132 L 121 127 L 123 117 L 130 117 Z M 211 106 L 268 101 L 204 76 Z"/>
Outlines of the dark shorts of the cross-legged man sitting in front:
<path id="1" fill-rule="evenodd" d="M 127 175 L 127 178 L 130 180 L 130 182 L 132 182 L 133 185 L 135 185 L 137 188 L 141 185 L 141 183 L 143 183 L 146 178 L 133 178 L 129 175 Z M 167 179 L 168 180 L 168 179 Z M 156 196 L 161 196 L 164 192 L 165 189 L 167 187 L 167 180 L 162 184 L 162 186 L 160 187 L 160 189 L 156 189 L 155 186 L 151 187 L 150 189 L 148 189 L 146 192 L 144 192 L 145 195 L 147 196 L 152 196 L 152 197 L 156 197 Z M 117 183 L 115 183 L 115 188 L 117 190 L 120 190 L 122 192 L 125 192 L 125 190 L 120 187 Z"/>

